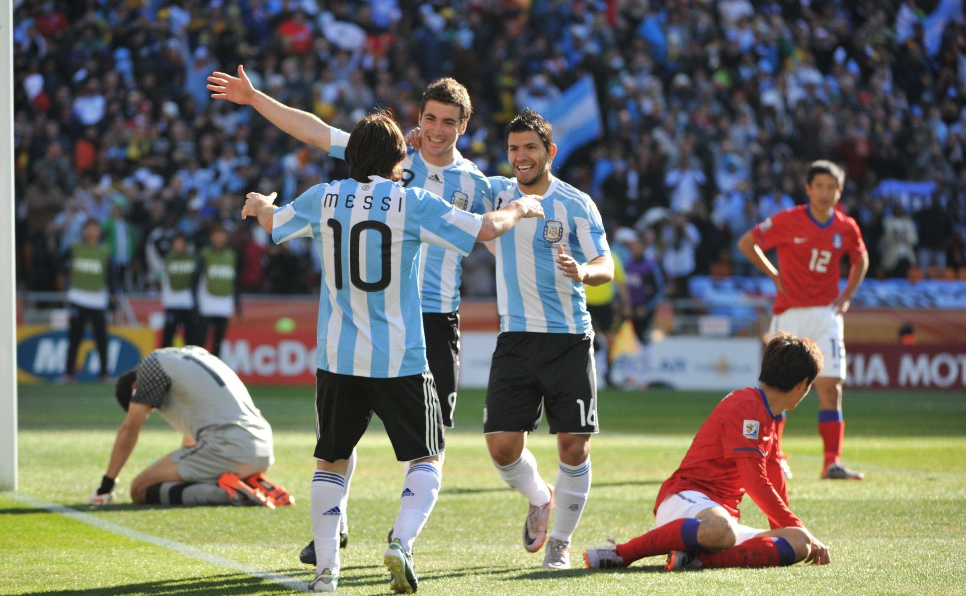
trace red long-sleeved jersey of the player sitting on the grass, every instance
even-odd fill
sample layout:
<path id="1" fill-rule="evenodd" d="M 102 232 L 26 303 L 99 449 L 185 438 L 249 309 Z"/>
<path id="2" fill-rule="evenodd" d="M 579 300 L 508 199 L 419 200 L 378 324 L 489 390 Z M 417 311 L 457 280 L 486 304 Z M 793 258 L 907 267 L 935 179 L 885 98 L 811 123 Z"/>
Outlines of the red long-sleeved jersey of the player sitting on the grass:
<path id="1" fill-rule="evenodd" d="M 747 491 L 773 526 L 802 525 L 787 508 L 786 497 L 781 494 L 783 482 L 767 477 L 766 463 L 777 457 L 775 416 L 764 392 L 754 387 L 732 391 L 715 406 L 698 429 L 681 465 L 661 485 L 654 512 L 669 495 L 698 491 L 738 518 L 738 503 Z M 747 475 L 743 476 L 741 461 L 753 464 L 756 473 L 746 468 Z M 781 475 L 780 468 L 774 468 Z M 745 480 L 754 485 L 746 486 Z"/>

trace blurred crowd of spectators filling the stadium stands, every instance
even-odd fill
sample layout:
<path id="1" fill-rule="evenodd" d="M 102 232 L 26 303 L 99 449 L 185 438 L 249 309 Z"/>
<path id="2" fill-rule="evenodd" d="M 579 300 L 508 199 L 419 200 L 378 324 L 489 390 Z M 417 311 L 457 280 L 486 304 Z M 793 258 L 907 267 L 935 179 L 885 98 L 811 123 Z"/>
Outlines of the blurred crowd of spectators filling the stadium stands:
<path id="1" fill-rule="evenodd" d="M 805 202 L 803 175 L 846 170 L 873 276 L 966 270 L 966 24 L 958 2 L 811 0 L 14 0 L 19 283 L 52 274 L 99 220 L 128 291 L 156 288 L 171 238 L 232 234 L 241 291 L 317 291 L 306 242 L 275 246 L 244 194 L 291 201 L 344 163 L 210 98 L 241 63 L 255 86 L 339 128 L 377 104 L 415 125 L 455 76 L 474 113 L 458 144 L 509 174 L 503 126 L 592 75 L 604 133 L 559 176 L 608 229 L 648 233 L 669 282 L 753 274 L 735 241 Z M 931 197 L 880 196 L 887 179 Z M 464 293 L 493 292 L 488 253 Z M 949 271 L 949 272 L 947 272 Z M 670 296 L 686 284 L 669 283 Z"/>

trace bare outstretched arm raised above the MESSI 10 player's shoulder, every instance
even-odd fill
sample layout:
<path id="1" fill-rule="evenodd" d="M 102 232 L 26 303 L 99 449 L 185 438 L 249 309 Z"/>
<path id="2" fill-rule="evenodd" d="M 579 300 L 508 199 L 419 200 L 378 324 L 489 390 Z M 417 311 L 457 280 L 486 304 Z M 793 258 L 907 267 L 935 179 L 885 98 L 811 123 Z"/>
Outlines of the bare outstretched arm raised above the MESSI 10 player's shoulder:
<path id="1" fill-rule="evenodd" d="M 299 141 L 326 152 L 331 149 L 331 127 L 315 114 L 289 107 L 255 89 L 241 65 L 238 76 L 226 72 L 212 72 L 208 82 L 208 90 L 213 92 L 213 99 L 228 99 L 240 105 L 250 105 L 271 124 Z"/>

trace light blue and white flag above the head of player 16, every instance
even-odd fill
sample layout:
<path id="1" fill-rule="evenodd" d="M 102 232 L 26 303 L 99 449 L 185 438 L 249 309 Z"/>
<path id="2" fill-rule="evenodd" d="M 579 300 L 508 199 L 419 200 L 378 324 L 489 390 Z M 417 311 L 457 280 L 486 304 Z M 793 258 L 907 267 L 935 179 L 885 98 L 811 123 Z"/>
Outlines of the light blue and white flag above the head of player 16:
<path id="1" fill-rule="evenodd" d="M 597 139 L 604 131 L 594 79 L 585 74 L 554 102 L 543 117 L 554 125 L 556 171 L 574 150 Z"/>

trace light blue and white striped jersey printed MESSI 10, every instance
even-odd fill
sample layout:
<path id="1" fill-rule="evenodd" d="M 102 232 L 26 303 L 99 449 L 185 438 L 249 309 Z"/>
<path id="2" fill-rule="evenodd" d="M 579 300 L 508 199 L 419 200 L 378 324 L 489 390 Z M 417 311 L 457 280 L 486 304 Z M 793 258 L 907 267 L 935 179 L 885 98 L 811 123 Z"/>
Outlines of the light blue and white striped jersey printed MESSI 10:
<path id="1" fill-rule="evenodd" d="M 275 210 L 271 239 L 318 242 L 318 367 L 356 377 L 429 370 L 419 307 L 422 242 L 469 254 L 483 218 L 373 177 L 312 186 Z"/>

